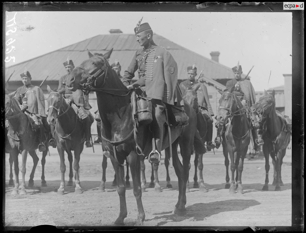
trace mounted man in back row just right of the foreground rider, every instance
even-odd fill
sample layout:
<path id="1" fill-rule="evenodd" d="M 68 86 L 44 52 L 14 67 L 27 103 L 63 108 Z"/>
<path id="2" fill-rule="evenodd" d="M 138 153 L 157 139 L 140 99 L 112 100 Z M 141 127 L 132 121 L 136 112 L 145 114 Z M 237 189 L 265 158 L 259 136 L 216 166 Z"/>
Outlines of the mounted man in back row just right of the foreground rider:
<path id="1" fill-rule="evenodd" d="M 203 83 L 199 83 L 197 82 L 197 80 L 195 80 L 195 77 L 197 75 L 196 71 L 197 71 L 196 65 L 187 67 L 188 80 L 181 82 L 180 88 L 183 95 L 185 91 L 188 89 L 192 89 L 197 93 L 199 110 L 203 114 L 204 119 L 207 121 L 207 136 L 206 136 L 207 150 L 211 151 L 211 149 L 215 148 L 215 145 L 212 142 L 212 131 L 213 131 L 212 117 L 214 116 L 214 112 L 209 102 L 207 87 Z"/>

